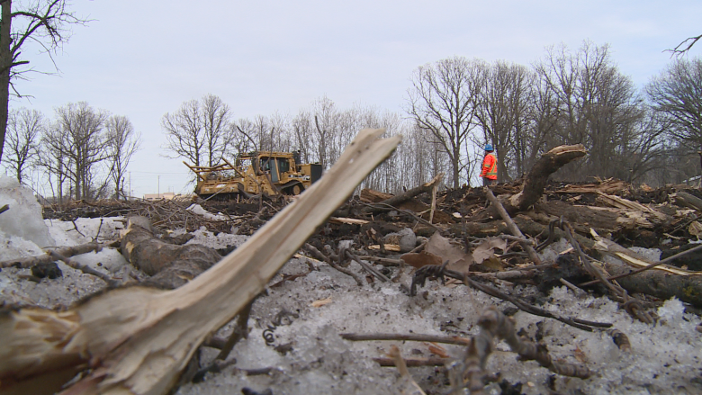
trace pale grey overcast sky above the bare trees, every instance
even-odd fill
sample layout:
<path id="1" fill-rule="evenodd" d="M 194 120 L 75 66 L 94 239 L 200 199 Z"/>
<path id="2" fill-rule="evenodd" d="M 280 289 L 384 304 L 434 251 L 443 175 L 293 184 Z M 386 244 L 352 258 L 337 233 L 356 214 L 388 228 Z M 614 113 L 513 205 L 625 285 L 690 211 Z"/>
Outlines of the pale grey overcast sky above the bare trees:
<path id="1" fill-rule="evenodd" d="M 143 139 L 130 165 L 135 196 L 191 192 L 182 160 L 161 157 L 160 120 L 203 94 L 220 96 L 235 119 L 294 115 L 325 94 L 341 110 L 402 112 L 421 65 L 453 56 L 530 65 L 546 47 L 575 50 L 583 40 L 608 43 L 641 86 L 671 61 L 665 49 L 702 34 L 698 0 L 76 0 L 71 8 L 92 22 L 74 27 L 55 57 L 59 76 L 17 83 L 33 98 L 11 108 L 53 118 L 55 107 L 85 101 L 129 117 Z M 702 43 L 689 56 L 700 53 Z M 23 56 L 53 69 L 45 56 Z"/>

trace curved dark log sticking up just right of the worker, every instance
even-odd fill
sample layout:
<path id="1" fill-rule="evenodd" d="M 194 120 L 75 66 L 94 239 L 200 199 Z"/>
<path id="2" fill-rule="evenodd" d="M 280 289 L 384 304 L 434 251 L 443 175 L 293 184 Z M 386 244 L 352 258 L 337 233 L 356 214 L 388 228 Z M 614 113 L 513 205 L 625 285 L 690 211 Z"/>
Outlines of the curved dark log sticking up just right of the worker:
<path id="1" fill-rule="evenodd" d="M 546 152 L 531 168 L 524 182 L 522 192 L 513 195 L 506 202 L 502 203 L 505 210 L 510 216 L 519 211 L 527 211 L 529 207 L 541 198 L 550 175 L 573 160 L 584 157 L 587 153 L 582 144 L 559 146 Z"/>

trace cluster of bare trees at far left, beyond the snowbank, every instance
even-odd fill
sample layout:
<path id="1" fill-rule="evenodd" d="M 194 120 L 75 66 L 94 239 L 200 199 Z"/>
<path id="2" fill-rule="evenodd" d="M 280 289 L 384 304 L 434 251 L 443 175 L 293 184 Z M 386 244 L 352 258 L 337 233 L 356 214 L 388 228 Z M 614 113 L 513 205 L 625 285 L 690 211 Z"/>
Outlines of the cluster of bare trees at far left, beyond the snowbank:
<path id="1" fill-rule="evenodd" d="M 124 176 L 140 144 L 129 118 L 85 102 L 67 103 L 54 112 L 53 120 L 25 107 L 9 112 L 5 169 L 23 184 L 37 170 L 57 202 L 126 198 Z"/>

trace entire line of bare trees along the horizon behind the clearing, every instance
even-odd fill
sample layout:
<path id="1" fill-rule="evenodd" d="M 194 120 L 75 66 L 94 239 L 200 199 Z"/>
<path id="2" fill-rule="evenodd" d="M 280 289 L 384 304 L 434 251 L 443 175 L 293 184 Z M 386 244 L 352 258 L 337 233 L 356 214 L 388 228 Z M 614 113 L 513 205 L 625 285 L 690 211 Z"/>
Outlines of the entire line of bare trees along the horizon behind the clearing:
<path id="1" fill-rule="evenodd" d="M 54 196 L 124 197 L 124 174 L 139 147 L 130 121 L 87 103 L 56 109 L 56 119 L 10 113 L 3 164 L 23 181 L 29 166 L 47 176 Z M 589 155 L 561 179 L 616 177 L 661 185 L 699 175 L 702 60 L 673 58 L 637 88 L 608 45 L 547 49 L 530 66 L 453 57 L 410 76 L 404 112 L 355 104 L 340 109 L 321 96 L 294 114 L 238 118 L 215 94 L 161 117 L 166 156 L 195 166 L 253 150 L 300 150 L 302 161 L 333 165 L 360 129 L 402 134 L 401 147 L 364 183 L 396 193 L 445 173 L 449 187 L 474 184 L 482 147 L 492 144 L 500 182 L 526 173 L 541 153 L 583 144 Z M 37 142 L 40 142 L 37 143 Z M 41 148 L 40 148 L 41 147 Z"/>

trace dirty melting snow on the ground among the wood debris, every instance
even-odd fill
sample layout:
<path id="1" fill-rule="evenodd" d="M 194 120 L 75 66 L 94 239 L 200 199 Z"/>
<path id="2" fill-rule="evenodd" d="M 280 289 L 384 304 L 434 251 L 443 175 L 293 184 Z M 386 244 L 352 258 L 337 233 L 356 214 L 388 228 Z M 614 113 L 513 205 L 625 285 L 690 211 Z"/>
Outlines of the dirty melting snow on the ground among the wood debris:
<path id="1" fill-rule="evenodd" d="M 8 186 L 9 185 L 9 186 Z M 40 253 L 40 247 L 73 246 L 97 238 L 119 238 L 121 218 L 79 219 L 74 222 L 40 220 L 38 205 L 27 198 L 23 188 L 0 178 L 0 205 L 9 202 L 10 211 L 0 214 L 0 260 Z M 99 229 L 99 234 L 98 234 Z M 181 230 L 182 231 L 182 230 Z M 177 230 L 176 230 L 177 232 Z M 206 229 L 195 232 L 190 243 L 210 247 L 238 247 L 244 237 L 225 233 L 214 235 Z M 565 249 L 557 243 L 545 259 Z M 115 277 L 124 275 L 126 262 L 109 248 L 100 254 L 86 254 L 86 264 L 108 271 Z M 23 278 L 29 269 L 5 268 L 0 272 L 0 303 L 35 304 L 47 308 L 67 306 L 103 288 L 101 280 L 82 274 L 61 263 L 63 277 L 33 283 Z M 350 342 L 341 333 L 397 333 L 459 335 L 476 334 L 476 321 L 482 310 L 510 303 L 468 289 L 463 285 L 444 286 L 428 281 L 411 297 L 403 291 L 410 284 L 410 273 L 401 274 L 399 283 L 373 283 L 359 287 L 346 274 L 319 262 L 316 270 L 293 281 L 272 285 L 283 274 L 304 274 L 308 265 L 293 258 L 270 283 L 267 294 L 254 304 L 248 338 L 229 355 L 236 364 L 220 373 L 207 373 L 204 382 L 185 384 L 179 395 L 215 395 L 242 393 L 244 388 L 273 394 L 395 394 L 401 393 L 401 381 L 394 368 L 380 367 L 372 358 L 385 356 L 390 346 L 401 347 L 405 357 L 431 356 L 429 345 L 418 342 Z M 356 263 L 349 266 L 356 273 Z M 398 270 L 398 269 L 395 269 Z M 392 275 L 397 274 L 397 272 Z M 505 288 L 515 294 L 534 293 L 529 287 Z M 312 302 L 327 300 L 313 307 Z M 593 372 L 588 380 L 554 375 L 535 362 L 518 362 L 504 343 L 497 345 L 487 369 L 500 372 L 511 384 L 521 383 L 525 394 L 555 391 L 563 394 L 694 394 L 702 393 L 702 334 L 695 328 L 700 318 L 684 313 L 680 301 L 666 301 L 658 310 L 661 319 L 653 326 L 635 321 L 617 304 L 606 298 L 576 297 L 566 288 L 556 288 L 542 306 L 563 315 L 608 321 L 624 332 L 632 352 L 622 352 L 603 331 L 586 332 L 553 319 L 542 319 L 518 312 L 514 319 L 529 337 L 543 337 L 551 355 L 563 362 L 586 364 Z M 267 329 L 267 330 L 266 330 Z M 231 326 L 221 328 L 227 336 Z M 266 344 L 266 336 L 268 344 Z M 289 348 L 278 352 L 275 347 Z M 443 345 L 449 355 L 459 357 L 460 346 Z M 281 347 L 279 347 L 281 348 Z M 216 351 L 203 348 L 206 363 Z M 273 368 L 266 375 L 247 376 L 243 369 Z M 410 373 L 427 393 L 445 393 L 446 376 L 434 367 L 412 367 Z M 553 379 L 554 378 L 554 379 Z M 552 387 L 549 388 L 549 382 Z M 501 392 L 497 383 L 488 385 L 487 393 Z"/>

